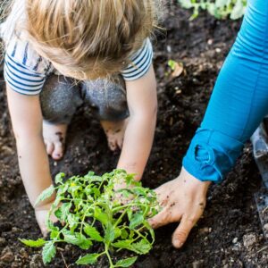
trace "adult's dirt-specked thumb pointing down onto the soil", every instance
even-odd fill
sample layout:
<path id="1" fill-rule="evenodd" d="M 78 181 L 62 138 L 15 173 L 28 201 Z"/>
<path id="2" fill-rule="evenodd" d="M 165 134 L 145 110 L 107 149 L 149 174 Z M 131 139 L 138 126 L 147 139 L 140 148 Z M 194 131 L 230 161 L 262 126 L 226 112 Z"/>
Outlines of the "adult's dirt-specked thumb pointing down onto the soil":
<path id="1" fill-rule="evenodd" d="M 188 238 L 190 230 L 197 223 L 196 219 L 188 218 L 188 216 L 183 215 L 178 228 L 173 232 L 172 244 L 174 247 L 180 248 L 185 243 Z"/>

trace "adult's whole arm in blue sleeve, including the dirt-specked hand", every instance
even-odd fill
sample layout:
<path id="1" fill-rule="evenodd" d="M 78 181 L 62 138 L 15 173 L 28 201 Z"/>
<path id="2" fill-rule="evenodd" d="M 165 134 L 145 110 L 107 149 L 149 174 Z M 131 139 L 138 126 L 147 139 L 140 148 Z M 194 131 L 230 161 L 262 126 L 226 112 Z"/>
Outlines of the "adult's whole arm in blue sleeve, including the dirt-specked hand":
<path id="1" fill-rule="evenodd" d="M 156 228 L 180 221 L 173 234 L 174 247 L 182 247 L 203 213 L 208 185 L 221 182 L 230 172 L 244 143 L 268 113 L 267 81 L 268 2 L 249 0 L 180 176 L 156 189 L 163 211 L 151 224 Z"/>

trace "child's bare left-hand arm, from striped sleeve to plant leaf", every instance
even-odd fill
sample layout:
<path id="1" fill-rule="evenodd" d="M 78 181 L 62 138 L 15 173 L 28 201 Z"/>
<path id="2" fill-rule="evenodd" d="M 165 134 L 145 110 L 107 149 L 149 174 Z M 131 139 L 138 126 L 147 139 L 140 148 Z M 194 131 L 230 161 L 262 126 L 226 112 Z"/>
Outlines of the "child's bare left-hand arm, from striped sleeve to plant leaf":
<path id="1" fill-rule="evenodd" d="M 52 184 L 46 147 L 42 137 L 39 96 L 24 96 L 7 85 L 7 98 L 16 138 L 21 178 L 31 205 Z M 36 207 L 41 210 L 54 197 Z"/>

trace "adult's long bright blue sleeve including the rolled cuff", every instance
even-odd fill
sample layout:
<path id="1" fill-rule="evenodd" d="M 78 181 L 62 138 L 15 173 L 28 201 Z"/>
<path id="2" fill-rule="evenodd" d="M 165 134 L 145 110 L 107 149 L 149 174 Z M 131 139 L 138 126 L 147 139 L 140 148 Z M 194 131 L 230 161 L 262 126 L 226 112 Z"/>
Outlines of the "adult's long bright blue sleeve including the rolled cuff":
<path id="1" fill-rule="evenodd" d="M 238 38 L 183 159 L 184 168 L 199 180 L 221 182 L 267 113 L 268 1 L 248 0 Z"/>

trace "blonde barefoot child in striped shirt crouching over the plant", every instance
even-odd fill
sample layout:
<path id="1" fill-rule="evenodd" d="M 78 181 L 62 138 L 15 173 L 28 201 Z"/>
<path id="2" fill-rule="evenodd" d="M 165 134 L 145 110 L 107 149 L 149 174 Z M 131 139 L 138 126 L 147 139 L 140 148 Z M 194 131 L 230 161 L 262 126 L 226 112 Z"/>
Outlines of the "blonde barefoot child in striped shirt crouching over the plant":
<path id="1" fill-rule="evenodd" d="M 156 0 L 15 0 L 4 21 L 4 78 L 21 178 L 31 205 L 52 184 L 48 157 L 63 157 L 66 130 L 93 105 L 117 168 L 140 180 L 155 132 L 156 86 L 149 36 Z M 35 206 L 45 234 L 54 197 Z"/>

